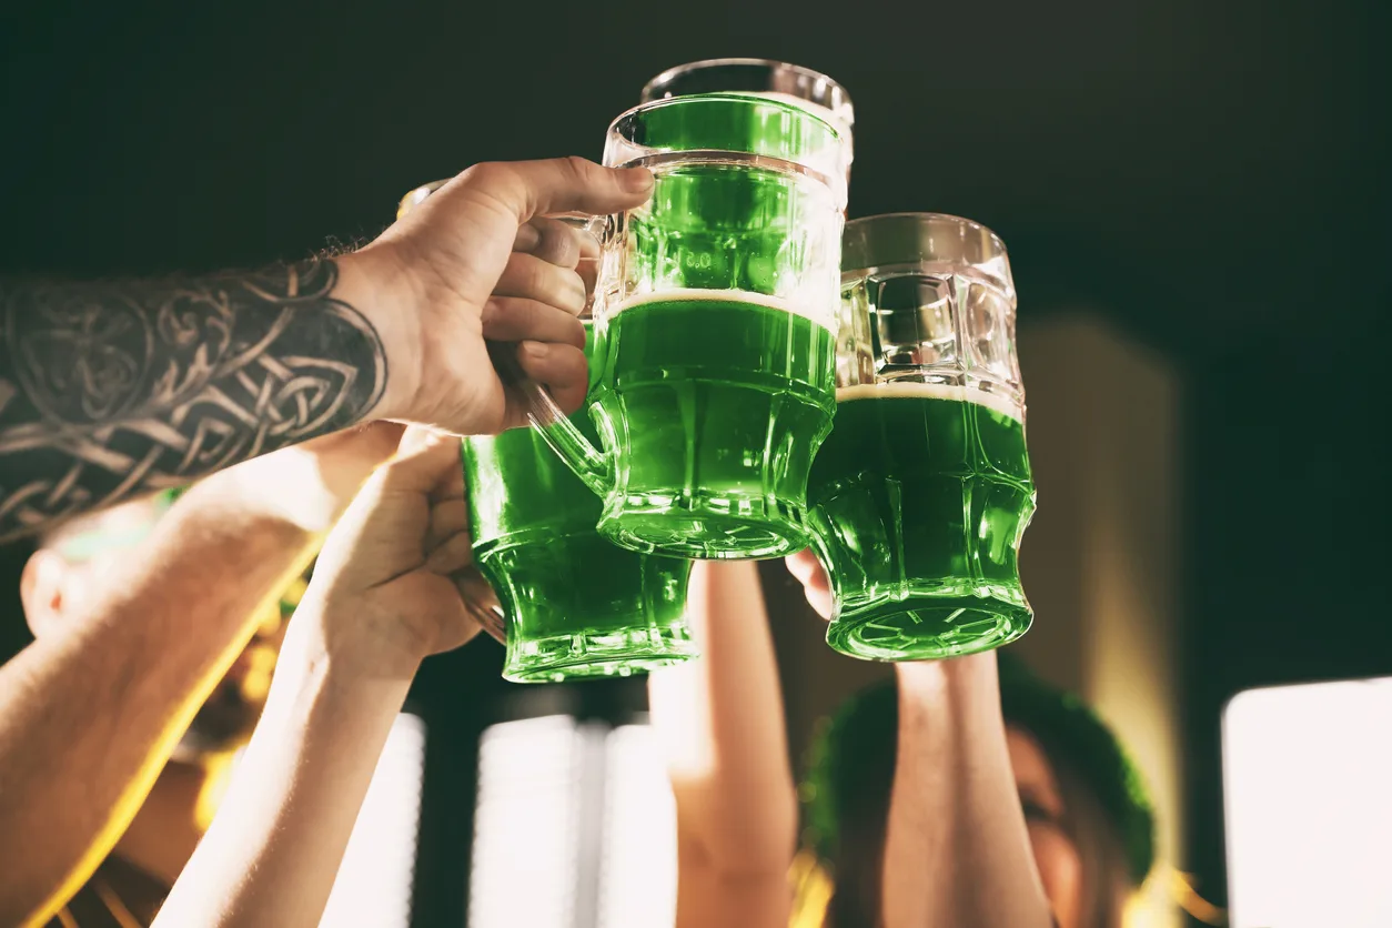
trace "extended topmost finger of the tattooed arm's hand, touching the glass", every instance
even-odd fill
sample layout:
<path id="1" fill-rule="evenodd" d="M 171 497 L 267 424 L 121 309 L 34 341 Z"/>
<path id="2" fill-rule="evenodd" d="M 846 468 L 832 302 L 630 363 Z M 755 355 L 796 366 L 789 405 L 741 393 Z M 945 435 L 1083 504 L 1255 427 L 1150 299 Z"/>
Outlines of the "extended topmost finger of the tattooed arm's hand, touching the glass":
<path id="1" fill-rule="evenodd" d="M 607 216 L 642 206 L 653 192 L 647 168 L 610 168 L 582 157 L 514 161 L 518 220 L 546 213 Z"/>

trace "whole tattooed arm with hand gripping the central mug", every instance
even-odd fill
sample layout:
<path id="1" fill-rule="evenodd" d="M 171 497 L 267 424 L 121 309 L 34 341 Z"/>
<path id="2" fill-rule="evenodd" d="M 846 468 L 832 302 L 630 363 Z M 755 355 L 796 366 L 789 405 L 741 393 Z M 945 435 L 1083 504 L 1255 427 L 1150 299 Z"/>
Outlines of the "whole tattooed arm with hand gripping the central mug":
<path id="1" fill-rule="evenodd" d="M 352 255 L 114 284 L 0 281 L 0 543 L 369 419 L 523 422 L 486 339 L 567 409 L 579 253 L 533 217 L 643 202 L 647 171 L 480 164 Z"/>

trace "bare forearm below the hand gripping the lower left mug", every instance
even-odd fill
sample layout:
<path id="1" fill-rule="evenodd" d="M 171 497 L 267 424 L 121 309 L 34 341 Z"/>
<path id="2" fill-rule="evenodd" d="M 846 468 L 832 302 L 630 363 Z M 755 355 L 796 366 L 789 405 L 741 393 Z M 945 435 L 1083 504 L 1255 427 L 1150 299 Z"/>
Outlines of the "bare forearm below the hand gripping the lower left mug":
<path id="1" fill-rule="evenodd" d="M 159 928 L 313 928 L 323 915 L 409 679 L 306 658 L 303 630 L 291 629 L 266 712 Z"/>

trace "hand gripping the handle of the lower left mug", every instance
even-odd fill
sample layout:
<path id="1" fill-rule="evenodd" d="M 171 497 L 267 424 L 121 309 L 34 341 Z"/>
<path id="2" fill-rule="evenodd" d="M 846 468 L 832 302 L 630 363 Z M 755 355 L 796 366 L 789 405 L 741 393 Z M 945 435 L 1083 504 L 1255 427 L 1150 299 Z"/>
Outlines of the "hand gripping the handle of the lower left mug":
<path id="1" fill-rule="evenodd" d="M 459 441 L 412 427 L 329 536 L 296 619 L 313 622 L 310 659 L 409 679 L 496 604 L 473 568 Z"/>

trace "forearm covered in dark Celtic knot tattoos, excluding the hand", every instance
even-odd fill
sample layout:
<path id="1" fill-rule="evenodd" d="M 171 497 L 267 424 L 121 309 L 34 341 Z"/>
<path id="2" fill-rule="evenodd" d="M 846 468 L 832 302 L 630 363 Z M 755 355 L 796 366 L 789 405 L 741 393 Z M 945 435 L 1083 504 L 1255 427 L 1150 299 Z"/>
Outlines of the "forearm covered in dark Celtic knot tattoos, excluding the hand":
<path id="1" fill-rule="evenodd" d="M 0 282 L 0 541 L 361 420 L 387 359 L 337 277 Z"/>

